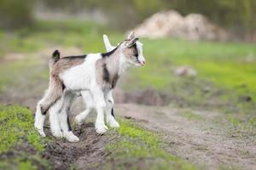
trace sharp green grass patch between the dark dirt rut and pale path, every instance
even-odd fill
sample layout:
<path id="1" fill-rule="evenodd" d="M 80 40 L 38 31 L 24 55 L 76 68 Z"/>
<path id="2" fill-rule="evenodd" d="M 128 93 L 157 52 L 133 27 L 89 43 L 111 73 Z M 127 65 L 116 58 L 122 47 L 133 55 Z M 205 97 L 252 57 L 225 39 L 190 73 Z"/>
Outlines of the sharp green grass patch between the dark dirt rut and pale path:
<path id="1" fill-rule="evenodd" d="M 155 133 L 134 122 L 121 119 L 117 131 L 118 140 L 106 146 L 111 152 L 108 162 L 113 162 L 113 165 L 107 165 L 109 169 L 112 166 L 119 169 L 197 169 L 188 161 L 166 152 Z"/>

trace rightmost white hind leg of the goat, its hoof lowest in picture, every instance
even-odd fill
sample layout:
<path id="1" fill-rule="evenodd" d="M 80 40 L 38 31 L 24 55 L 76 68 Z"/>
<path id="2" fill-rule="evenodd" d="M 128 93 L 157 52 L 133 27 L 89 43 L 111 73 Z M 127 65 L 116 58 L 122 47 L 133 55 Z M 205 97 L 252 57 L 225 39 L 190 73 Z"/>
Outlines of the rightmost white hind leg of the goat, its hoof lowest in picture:
<path id="1" fill-rule="evenodd" d="M 69 142 L 78 142 L 79 138 L 73 134 L 71 125 L 69 122 L 69 112 L 70 106 L 73 103 L 73 99 L 75 94 L 72 92 L 66 92 L 64 94 L 63 105 L 61 107 L 61 111 L 58 114 L 59 121 L 61 123 L 61 130 L 63 133 L 63 137 L 67 139 Z"/>

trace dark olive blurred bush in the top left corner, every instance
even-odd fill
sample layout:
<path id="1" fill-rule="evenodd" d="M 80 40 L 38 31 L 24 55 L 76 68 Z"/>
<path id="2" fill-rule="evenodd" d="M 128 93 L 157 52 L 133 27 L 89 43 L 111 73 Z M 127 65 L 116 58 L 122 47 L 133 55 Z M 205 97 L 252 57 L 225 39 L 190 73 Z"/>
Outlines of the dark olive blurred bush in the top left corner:
<path id="1" fill-rule="evenodd" d="M 0 0 L 0 27 L 27 26 L 33 20 L 35 0 Z"/>

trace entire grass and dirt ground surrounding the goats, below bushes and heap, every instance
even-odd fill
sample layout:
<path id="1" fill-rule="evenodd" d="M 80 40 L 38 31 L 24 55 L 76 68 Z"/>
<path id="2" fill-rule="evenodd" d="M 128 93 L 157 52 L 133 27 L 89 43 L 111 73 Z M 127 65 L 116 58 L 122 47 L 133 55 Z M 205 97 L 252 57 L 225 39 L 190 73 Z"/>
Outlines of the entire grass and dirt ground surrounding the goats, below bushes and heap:
<path id="1" fill-rule="evenodd" d="M 143 39 L 147 65 L 128 71 L 114 93 L 119 129 L 97 135 L 92 114 L 73 124 L 79 143 L 54 139 L 49 125 L 40 138 L 32 113 L 47 88 L 49 55 L 55 48 L 64 55 L 103 51 L 103 33 L 115 43 L 124 38 L 70 21 L 0 31 L 0 168 L 256 168 L 256 49 L 241 42 Z M 198 75 L 175 75 L 179 65 Z M 72 120 L 83 109 L 77 99 Z"/>

